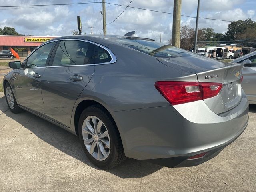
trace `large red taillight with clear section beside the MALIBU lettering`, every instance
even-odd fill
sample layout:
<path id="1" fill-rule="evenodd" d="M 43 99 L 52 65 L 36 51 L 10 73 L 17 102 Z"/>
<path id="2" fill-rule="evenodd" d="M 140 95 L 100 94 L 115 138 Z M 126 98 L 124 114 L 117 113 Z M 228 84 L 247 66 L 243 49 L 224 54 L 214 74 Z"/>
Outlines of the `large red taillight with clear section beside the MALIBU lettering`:
<path id="1" fill-rule="evenodd" d="M 198 101 L 218 95 L 221 83 L 158 81 L 156 89 L 172 105 Z"/>

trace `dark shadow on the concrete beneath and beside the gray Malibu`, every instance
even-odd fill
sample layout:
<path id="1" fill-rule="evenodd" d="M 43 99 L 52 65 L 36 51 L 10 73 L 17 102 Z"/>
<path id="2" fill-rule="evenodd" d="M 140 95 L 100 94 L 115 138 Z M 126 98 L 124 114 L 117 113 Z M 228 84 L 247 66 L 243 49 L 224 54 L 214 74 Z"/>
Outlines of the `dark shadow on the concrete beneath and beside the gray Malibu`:
<path id="1" fill-rule="evenodd" d="M 55 126 L 34 114 L 26 111 L 20 114 L 13 114 L 10 110 L 6 110 L 6 107 L 7 104 L 5 98 L 0 98 L 0 110 L 3 111 L 6 116 L 20 123 L 24 128 L 30 130 L 38 138 L 47 142 L 54 148 L 76 158 L 88 166 L 101 170 L 94 166 L 86 157 L 79 142 L 79 138 L 76 135 Z M 150 162 L 126 158 L 122 164 L 112 168 L 111 170 L 104 171 L 114 174 L 120 178 L 140 178 L 142 176 L 152 174 L 153 172 L 160 170 L 162 167 L 163 166 L 152 164 Z"/>

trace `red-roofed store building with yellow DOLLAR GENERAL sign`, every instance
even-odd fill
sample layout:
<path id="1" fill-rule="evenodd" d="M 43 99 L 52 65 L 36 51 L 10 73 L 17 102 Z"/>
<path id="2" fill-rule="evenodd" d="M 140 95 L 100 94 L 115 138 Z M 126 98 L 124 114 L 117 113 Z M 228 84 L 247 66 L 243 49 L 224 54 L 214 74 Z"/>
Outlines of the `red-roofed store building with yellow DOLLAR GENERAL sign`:
<path id="1" fill-rule="evenodd" d="M 56 36 L 12 36 L 0 35 L 0 51 L 15 50 L 20 57 L 28 56 L 37 46 L 43 42 L 56 38 Z"/>

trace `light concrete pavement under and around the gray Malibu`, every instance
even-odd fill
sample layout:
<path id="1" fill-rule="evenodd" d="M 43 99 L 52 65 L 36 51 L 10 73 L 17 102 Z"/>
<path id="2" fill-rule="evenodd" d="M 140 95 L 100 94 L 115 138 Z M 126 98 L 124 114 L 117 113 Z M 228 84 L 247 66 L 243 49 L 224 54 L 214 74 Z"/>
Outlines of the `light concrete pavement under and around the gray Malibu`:
<path id="1" fill-rule="evenodd" d="M 245 132 L 199 166 L 166 168 L 126 159 L 93 166 L 78 137 L 28 112 L 12 114 L 0 93 L 0 191 L 255 192 L 256 106 Z"/>

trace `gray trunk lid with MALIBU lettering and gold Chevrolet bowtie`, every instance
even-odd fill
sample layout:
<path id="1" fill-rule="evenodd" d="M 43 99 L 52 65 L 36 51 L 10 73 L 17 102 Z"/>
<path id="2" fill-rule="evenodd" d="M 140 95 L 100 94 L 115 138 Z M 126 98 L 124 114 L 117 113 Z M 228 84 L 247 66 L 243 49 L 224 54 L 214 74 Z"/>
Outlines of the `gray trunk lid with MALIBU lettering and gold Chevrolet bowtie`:
<path id="1" fill-rule="evenodd" d="M 219 62 L 204 57 L 176 57 L 160 59 L 160 62 L 179 70 L 196 73 L 198 82 L 222 83 L 220 93 L 212 98 L 204 99 L 206 105 L 216 114 L 226 112 L 241 101 L 241 77 L 244 64 Z"/>

